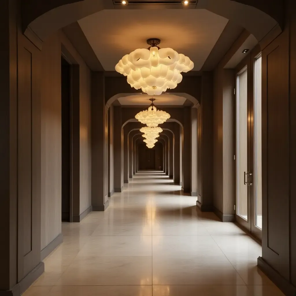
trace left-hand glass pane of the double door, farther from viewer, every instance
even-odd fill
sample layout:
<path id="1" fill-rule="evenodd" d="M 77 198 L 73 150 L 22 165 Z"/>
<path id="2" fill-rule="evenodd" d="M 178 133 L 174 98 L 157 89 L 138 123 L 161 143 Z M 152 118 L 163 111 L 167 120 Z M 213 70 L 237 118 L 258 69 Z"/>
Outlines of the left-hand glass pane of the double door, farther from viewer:
<path id="1" fill-rule="evenodd" d="M 247 67 L 237 75 L 237 215 L 248 221 L 248 91 Z"/>

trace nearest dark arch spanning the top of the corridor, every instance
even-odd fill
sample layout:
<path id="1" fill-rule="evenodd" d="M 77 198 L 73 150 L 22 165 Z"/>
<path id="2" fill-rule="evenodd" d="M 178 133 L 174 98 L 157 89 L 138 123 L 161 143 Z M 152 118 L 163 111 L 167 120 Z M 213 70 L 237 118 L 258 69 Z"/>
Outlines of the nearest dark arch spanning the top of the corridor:
<path id="1" fill-rule="evenodd" d="M 44 41 L 51 33 L 104 9 L 115 9 L 112 0 L 26 0 L 22 1 L 22 28 L 30 39 Z M 116 7 L 117 8 L 117 7 Z M 122 7 L 118 7 L 122 8 Z M 129 10 L 129 7 L 125 7 Z M 155 8 L 155 5 L 137 5 L 139 9 Z M 172 8 L 170 5 L 158 9 Z M 182 6 L 173 8 L 181 9 Z M 283 28 L 284 1 L 274 0 L 199 0 L 195 9 L 206 9 L 238 25 L 253 34 L 258 41 L 277 25 Z M 149 36 L 151 37 L 151 36 Z"/>

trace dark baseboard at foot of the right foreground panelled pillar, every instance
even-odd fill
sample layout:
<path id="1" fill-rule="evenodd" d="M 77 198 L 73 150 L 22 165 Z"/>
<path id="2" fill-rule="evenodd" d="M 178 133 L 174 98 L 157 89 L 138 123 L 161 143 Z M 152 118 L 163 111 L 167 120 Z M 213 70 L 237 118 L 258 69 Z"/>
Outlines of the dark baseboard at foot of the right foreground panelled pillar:
<path id="1" fill-rule="evenodd" d="M 286 296 L 295 296 L 296 288 L 274 270 L 262 257 L 258 257 L 257 266 L 268 276 Z"/>

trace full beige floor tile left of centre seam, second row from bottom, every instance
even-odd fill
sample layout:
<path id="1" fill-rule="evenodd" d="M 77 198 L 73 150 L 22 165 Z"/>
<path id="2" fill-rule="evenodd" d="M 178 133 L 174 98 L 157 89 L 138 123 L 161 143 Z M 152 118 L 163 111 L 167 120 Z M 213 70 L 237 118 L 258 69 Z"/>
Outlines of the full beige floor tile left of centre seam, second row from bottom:
<path id="1" fill-rule="evenodd" d="M 102 256 L 76 259 L 57 282 L 58 286 L 151 285 L 152 258 Z"/>

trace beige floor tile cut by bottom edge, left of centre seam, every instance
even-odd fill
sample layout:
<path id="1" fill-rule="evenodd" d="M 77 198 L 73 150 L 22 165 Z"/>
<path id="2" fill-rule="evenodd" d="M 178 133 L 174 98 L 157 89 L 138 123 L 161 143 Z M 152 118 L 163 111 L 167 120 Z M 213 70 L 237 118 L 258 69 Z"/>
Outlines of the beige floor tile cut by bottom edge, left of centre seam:
<path id="1" fill-rule="evenodd" d="M 56 286 L 48 296 L 152 296 L 152 286 Z"/>

